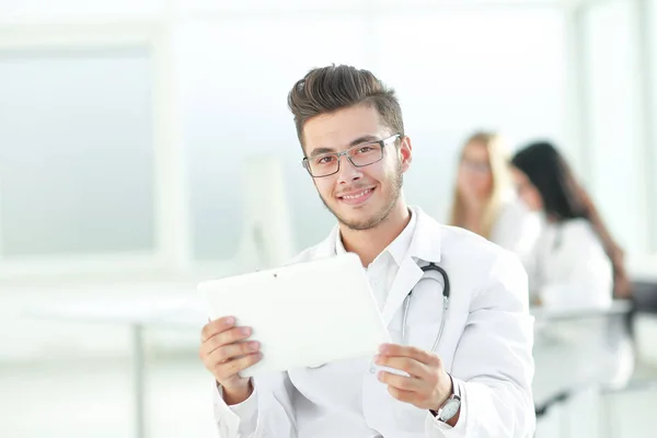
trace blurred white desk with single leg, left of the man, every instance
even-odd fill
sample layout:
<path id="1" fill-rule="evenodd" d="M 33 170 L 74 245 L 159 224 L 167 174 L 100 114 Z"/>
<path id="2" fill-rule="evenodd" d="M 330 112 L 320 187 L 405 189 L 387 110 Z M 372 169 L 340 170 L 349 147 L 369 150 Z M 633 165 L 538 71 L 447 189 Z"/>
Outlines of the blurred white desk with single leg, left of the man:
<path id="1" fill-rule="evenodd" d="M 192 296 L 192 298 L 191 298 Z M 48 303 L 27 309 L 33 318 L 78 321 L 90 324 L 127 325 L 130 330 L 132 360 L 132 403 L 135 406 L 135 438 L 146 438 L 146 345 L 145 328 L 200 328 L 207 314 L 194 292 L 149 299 L 106 299 Z"/>

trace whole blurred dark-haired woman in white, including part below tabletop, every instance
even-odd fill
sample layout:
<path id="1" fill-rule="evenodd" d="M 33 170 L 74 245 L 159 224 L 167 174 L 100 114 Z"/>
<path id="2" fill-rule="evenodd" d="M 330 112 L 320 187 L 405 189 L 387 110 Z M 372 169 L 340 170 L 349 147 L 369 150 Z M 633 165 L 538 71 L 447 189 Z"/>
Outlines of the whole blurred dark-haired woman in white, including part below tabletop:
<path id="1" fill-rule="evenodd" d="M 537 381 L 570 382 L 575 399 L 565 410 L 578 417 L 584 406 L 596 412 L 601 387 L 623 387 L 634 371 L 625 320 L 604 313 L 613 298 L 631 295 L 623 251 L 556 147 L 528 145 L 511 163 L 519 196 L 544 222 L 526 266 L 530 301 L 548 313 L 600 311 L 598 316 L 537 324 Z M 570 427 L 578 426 L 572 422 Z"/>

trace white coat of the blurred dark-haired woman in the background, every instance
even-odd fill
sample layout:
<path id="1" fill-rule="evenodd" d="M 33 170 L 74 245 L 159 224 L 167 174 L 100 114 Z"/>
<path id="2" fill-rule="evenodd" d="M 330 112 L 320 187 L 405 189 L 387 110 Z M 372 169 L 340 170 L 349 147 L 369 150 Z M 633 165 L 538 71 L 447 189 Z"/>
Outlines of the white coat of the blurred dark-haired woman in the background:
<path id="1" fill-rule="evenodd" d="M 527 270 L 532 300 L 540 300 L 548 312 L 576 314 L 579 310 L 604 310 L 612 304 L 612 264 L 585 219 L 558 223 L 544 220 Z M 554 355 L 561 360 L 568 358 L 561 370 L 554 365 L 546 366 L 554 364 L 551 357 Z M 558 380 L 580 385 L 623 384 L 634 368 L 632 343 L 619 316 L 540 322 L 534 358 L 539 381 L 556 373 L 561 374 Z"/>

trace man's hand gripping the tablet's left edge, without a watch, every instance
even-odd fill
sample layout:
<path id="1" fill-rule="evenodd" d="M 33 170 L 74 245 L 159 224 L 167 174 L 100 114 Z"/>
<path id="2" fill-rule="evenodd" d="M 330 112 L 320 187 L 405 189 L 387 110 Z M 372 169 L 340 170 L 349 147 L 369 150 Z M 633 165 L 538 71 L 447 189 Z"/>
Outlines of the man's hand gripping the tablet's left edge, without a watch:
<path id="1" fill-rule="evenodd" d="M 253 392 L 251 380 L 239 374 L 262 358 L 260 343 L 246 342 L 249 336 L 251 327 L 235 326 L 232 316 L 211 321 L 201 331 L 198 356 L 223 388 L 229 405 L 242 403 Z"/>

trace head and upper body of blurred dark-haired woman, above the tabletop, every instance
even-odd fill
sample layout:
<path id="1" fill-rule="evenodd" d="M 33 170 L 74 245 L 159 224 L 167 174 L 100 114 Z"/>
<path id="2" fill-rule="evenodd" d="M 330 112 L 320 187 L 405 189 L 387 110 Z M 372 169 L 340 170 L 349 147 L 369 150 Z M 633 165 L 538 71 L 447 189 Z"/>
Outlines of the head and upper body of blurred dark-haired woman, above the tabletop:
<path id="1" fill-rule="evenodd" d="M 544 221 L 526 265 L 533 303 L 601 308 L 627 298 L 623 251 L 556 148 L 529 145 L 511 163 L 518 195 Z"/>

